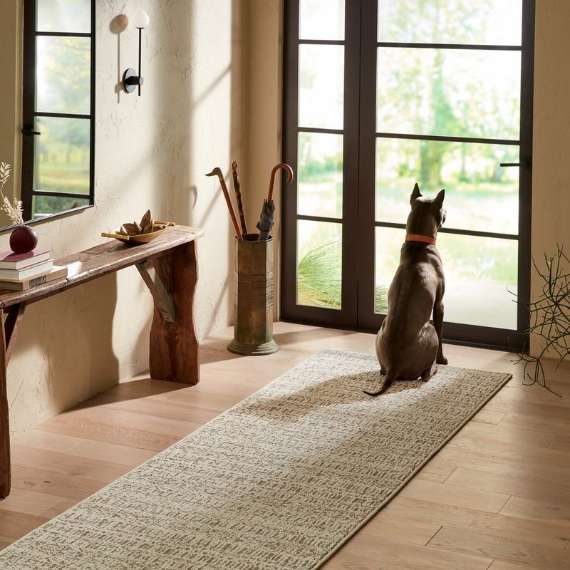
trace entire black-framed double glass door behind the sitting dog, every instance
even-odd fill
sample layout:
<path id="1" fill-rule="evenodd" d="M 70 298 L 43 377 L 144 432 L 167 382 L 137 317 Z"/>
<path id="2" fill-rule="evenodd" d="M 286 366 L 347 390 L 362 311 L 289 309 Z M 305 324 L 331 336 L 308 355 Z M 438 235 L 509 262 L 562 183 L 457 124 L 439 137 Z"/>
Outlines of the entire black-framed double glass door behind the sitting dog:
<path id="1" fill-rule="evenodd" d="M 286 0 L 281 318 L 375 331 L 418 182 L 447 340 L 521 348 L 534 0 Z"/>

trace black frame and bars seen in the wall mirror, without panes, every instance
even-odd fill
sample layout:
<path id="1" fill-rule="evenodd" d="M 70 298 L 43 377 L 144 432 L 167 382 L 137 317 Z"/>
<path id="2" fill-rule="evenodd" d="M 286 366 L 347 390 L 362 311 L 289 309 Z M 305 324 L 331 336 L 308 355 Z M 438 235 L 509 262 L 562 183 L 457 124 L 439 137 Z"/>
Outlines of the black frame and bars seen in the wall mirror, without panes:
<path id="1" fill-rule="evenodd" d="M 22 152 L 21 152 L 21 201 L 26 224 L 43 222 L 44 220 L 81 212 L 95 204 L 95 4 L 90 0 L 90 32 L 57 32 L 37 31 L 37 0 L 24 0 L 24 53 L 22 60 Z M 43 113 L 36 111 L 36 38 L 79 37 L 90 39 L 90 108 L 88 114 L 77 113 Z M 33 173 L 36 160 L 37 117 L 75 118 L 89 121 L 89 192 L 55 192 L 38 190 L 33 187 Z M 33 218 L 33 197 L 53 196 L 61 198 L 88 199 L 89 203 L 71 209 L 62 210 L 46 216 Z"/>

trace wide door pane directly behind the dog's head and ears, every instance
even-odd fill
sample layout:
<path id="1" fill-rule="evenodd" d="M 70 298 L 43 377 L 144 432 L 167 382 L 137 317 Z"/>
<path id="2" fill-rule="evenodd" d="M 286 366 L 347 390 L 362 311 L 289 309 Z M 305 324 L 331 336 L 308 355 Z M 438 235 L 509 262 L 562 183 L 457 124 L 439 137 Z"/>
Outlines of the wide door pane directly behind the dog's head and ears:
<path id="1" fill-rule="evenodd" d="M 403 224 L 415 182 L 423 195 L 445 188 L 445 227 L 517 234 L 519 147 L 376 139 L 376 220 Z"/>

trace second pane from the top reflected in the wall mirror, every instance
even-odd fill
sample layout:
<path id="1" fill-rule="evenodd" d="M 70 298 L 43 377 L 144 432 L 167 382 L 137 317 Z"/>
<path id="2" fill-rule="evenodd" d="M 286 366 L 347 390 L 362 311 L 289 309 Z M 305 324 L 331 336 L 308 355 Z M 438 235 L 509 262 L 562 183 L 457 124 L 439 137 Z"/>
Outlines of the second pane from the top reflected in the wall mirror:
<path id="1" fill-rule="evenodd" d="M 90 38 L 36 38 L 36 110 L 90 113 Z"/>

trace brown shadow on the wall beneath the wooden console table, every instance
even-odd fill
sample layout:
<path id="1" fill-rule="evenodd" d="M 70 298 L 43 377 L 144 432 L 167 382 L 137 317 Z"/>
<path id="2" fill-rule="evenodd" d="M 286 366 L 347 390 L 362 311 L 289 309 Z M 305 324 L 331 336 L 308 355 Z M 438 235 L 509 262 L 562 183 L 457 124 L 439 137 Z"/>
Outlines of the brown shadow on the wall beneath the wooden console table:
<path id="1" fill-rule="evenodd" d="M 38 407 L 41 404 L 37 402 L 45 406 L 33 410 L 40 420 L 118 382 L 118 360 L 112 343 L 116 279 L 116 274 L 101 277 L 28 306 L 11 366 L 26 370 L 28 363 L 35 361 L 35 368 L 31 375 L 11 378 L 9 405 L 16 402 L 21 391 L 43 393 L 33 399 Z M 19 366 L 24 359 L 27 366 Z M 28 383 L 31 385 L 26 387 Z M 20 428 L 11 425 L 11 430 Z"/>

